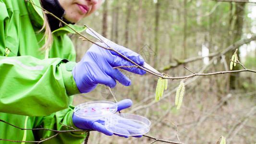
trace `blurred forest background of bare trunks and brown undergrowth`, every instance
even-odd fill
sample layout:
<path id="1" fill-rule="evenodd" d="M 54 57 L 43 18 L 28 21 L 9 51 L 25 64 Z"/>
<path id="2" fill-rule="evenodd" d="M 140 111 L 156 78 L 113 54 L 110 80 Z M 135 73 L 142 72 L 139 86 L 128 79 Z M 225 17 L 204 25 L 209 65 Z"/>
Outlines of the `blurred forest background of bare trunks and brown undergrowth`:
<path id="1" fill-rule="evenodd" d="M 227 1 L 103 0 L 101 8 L 79 24 L 86 24 L 138 52 L 148 64 L 172 77 L 193 74 L 183 66 L 196 73 L 229 71 L 236 48 L 241 63 L 256 70 L 256 0 Z M 72 36 L 77 61 L 92 45 L 78 37 Z M 235 67 L 242 69 L 240 65 Z M 118 101 L 133 100 L 134 105 L 123 113 L 141 115 L 151 121 L 147 135 L 179 142 L 174 126 L 179 124 L 178 137 L 185 144 L 216 144 L 221 135 L 228 144 L 256 143 L 256 73 L 189 78 L 184 81 L 183 105 L 176 110 L 175 91 L 181 80 L 169 80 L 168 89 L 156 103 L 157 77 L 122 72 L 132 80 L 132 85 L 117 84 L 112 92 Z M 93 100 L 114 98 L 107 87 L 99 84 L 93 92 L 75 96 L 74 105 Z M 88 143 L 152 142 L 147 137 L 125 139 L 91 132 Z"/>

